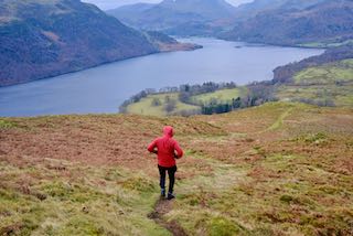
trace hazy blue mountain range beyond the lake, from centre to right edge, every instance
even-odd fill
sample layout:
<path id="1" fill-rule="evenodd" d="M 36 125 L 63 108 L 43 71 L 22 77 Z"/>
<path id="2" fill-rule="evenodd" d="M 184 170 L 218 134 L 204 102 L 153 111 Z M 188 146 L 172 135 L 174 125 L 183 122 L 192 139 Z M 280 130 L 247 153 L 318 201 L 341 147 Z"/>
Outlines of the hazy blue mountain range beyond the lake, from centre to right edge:
<path id="1" fill-rule="evenodd" d="M 178 3 L 179 2 L 179 3 Z M 349 0 L 255 0 L 238 7 L 224 1 L 164 0 L 159 4 L 126 6 L 109 14 L 138 29 L 180 36 L 215 36 L 286 46 L 303 43 L 343 42 L 353 37 L 353 7 Z M 197 7 L 195 7 L 197 6 Z M 222 7 L 223 6 L 223 7 Z M 197 9 L 197 10 L 194 10 Z M 212 9 L 215 17 L 210 11 Z M 339 39 L 340 37 L 340 39 Z"/>

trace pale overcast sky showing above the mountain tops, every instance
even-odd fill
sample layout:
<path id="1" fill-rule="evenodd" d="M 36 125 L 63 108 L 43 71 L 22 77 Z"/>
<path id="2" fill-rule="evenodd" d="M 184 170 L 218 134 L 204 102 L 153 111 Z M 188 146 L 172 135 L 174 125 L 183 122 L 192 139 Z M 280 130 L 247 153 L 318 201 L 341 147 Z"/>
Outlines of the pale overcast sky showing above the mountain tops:
<path id="1" fill-rule="evenodd" d="M 132 4 L 137 2 L 150 2 L 150 3 L 161 2 L 161 0 L 82 0 L 82 1 L 94 3 L 103 10 L 114 9 L 122 4 Z M 253 0 L 226 0 L 226 1 L 234 6 L 238 6 L 240 3 L 250 2 Z"/>

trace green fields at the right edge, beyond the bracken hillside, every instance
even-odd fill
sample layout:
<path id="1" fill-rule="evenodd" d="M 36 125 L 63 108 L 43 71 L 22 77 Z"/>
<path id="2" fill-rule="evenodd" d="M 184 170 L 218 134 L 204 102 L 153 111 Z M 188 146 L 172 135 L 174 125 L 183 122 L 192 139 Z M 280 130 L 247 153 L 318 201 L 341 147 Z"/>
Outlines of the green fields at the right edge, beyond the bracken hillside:
<path id="1" fill-rule="evenodd" d="M 280 100 L 353 107 L 353 60 L 309 67 L 276 93 Z"/>

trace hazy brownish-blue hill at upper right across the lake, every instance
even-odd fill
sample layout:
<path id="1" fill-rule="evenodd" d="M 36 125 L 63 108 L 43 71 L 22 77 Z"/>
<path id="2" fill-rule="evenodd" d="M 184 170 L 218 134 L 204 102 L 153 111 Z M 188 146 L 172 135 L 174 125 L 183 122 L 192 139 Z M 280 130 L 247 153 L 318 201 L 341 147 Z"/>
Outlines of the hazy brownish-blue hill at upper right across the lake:
<path id="1" fill-rule="evenodd" d="M 341 42 L 353 37 L 352 22 L 353 2 L 349 0 L 317 1 L 317 4 L 286 1 L 286 4 L 237 22 L 222 37 L 280 45 Z"/>

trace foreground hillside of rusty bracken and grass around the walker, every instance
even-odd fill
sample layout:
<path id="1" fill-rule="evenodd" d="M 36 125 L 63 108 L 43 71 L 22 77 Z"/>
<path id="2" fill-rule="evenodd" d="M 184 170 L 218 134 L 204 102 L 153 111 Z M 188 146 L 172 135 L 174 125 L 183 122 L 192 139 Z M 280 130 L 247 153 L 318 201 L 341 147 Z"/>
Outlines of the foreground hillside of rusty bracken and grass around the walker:
<path id="1" fill-rule="evenodd" d="M 186 151 L 172 202 L 146 151 L 167 124 Z M 1 235 L 353 234 L 352 109 L 1 118 L 0 140 Z"/>

